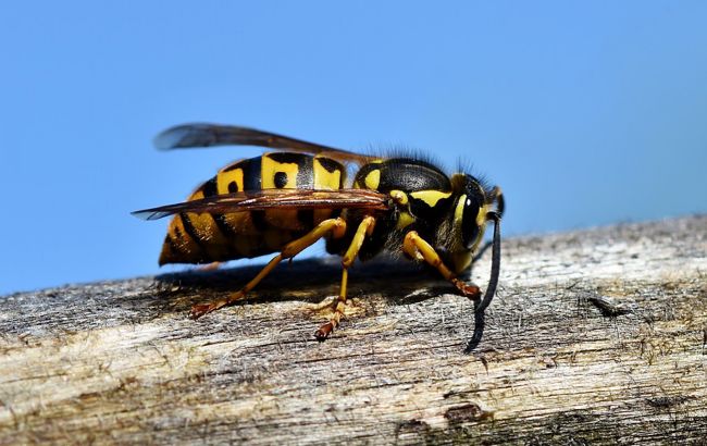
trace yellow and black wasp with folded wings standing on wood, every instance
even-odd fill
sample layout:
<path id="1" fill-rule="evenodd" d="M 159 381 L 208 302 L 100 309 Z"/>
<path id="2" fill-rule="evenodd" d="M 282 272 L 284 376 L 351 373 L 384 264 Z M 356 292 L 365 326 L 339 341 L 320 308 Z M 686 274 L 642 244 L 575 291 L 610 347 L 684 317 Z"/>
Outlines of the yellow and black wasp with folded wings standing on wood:
<path id="1" fill-rule="evenodd" d="M 194 306 L 194 319 L 244 299 L 277 263 L 322 238 L 327 252 L 342 256 L 343 270 L 333 317 L 314 334 L 320 340 L 344 315 L 355 259 L 365 261 L 382 251 L 437 270 L 474 301 L 477 315 L 491 303 L 500 269 L 504 196 L 498 186 L 467 173 L 449 176 L 419 157 L 365 156 L 240 126 L 185 124 L 156 138 L 159 149 L 225 145 L 274 151 L 226 165 L 184 202 L 133 212 L 146 220 L 173 215 L 160 265 L 276 253 L 238 292 Z M 459 275 L 480 250 L 489 222 L 492 269 L 482 298 L 479 286 Z"/>

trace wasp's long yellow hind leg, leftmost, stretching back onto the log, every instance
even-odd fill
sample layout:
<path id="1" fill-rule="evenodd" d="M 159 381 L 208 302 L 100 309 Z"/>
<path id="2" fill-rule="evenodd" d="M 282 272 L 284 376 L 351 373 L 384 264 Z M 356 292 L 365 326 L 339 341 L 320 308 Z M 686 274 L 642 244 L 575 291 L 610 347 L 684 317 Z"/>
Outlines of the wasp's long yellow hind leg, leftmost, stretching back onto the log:
<path id="1" fill-rule="evenodd" d="M 199 303 L 191 307 L 191 318 L 198 319 L 202 315 L 210 313 L 214 310 L 218 310 L 221 307 L 225 307 L 235 302 L 236 300 L 243 299 L 248 292 L 256 287 L 276 265 L 284 259 L 290 259 L 298 253 L 300 253 L 306 248 L 310 247 L 317 240 L 324 237 L 326 234 L 331 233 L 334 238 L 343 237 L 346 233 L 346 222 L 342 218 L 324 220 L 317 225 L 312 231 L 307 235 L 296 240 L 293 240 L 285 245 L 283 250 L 268 262 L 268 264 L 260 270 L 258 275 L 256 275 L 250 282 L 246 284 L 238 292 L 232 294 L 231 296 L 213 300 L 207 303 Z"/>

